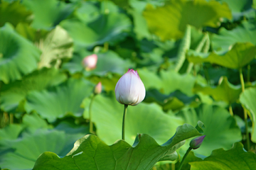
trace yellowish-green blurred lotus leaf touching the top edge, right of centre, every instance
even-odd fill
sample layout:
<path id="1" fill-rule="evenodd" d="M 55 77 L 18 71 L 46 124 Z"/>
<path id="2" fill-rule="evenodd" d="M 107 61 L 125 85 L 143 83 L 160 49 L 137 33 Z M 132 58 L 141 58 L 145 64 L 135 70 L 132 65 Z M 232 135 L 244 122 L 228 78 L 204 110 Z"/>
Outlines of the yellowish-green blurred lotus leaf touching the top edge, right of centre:
<path id="1" fill-rule="evenodd" d="M 148 5 L 143 14 L 149 30 L 162 40 L 182 38 L 186 25 L 218 27 L 220 18 L 232 18 L 227 4 L 204 0 L 174 0 L 157 8 Z"/>

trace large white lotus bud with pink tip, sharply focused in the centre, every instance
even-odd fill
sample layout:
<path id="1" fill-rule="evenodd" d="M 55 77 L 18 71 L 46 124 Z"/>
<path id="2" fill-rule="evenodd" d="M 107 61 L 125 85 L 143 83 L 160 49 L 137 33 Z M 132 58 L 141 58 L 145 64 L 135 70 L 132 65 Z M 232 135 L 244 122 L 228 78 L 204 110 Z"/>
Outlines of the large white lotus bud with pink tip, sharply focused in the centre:
<path id="1" fill-rule="evenodd" d="M 117 81 L 114 93 L 119 103 L 136 106 L 145 98 L 146 90 L 137 71 L 128 69 Z"/>

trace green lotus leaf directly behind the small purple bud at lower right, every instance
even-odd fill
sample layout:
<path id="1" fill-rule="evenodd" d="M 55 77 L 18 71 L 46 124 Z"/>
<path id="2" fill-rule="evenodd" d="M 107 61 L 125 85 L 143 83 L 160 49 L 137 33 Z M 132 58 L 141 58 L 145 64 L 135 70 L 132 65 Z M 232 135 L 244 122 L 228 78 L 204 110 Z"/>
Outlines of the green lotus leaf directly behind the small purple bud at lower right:
<path id="1" fill-rule="evenodd" d="M 230 149 L 234 142 L 242 140 L 240 128 L 225 108 L 202 104 L 198 108 L 183 109 L 177 116 L 181 116 L 185 123 L 195 124 L 201 120 L 205 129 L 203 134 L 206 135 L 201 147 L 193 150 L 196 154 L 209 156 L 213 149 L 224 148 Z M 185 147 L 188 148 L 188 143 Z"/>

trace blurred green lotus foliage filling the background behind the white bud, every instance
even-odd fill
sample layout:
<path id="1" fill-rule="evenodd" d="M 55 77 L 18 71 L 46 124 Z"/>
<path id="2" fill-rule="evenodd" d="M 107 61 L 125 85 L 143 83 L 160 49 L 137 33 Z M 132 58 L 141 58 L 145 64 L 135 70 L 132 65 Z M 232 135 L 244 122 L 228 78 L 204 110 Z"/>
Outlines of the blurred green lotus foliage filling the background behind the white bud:
<path id="1" fill-rule="evenodd" d="M 245 145 L 247 124 L 245 149 L 255 152 L 255 8 L 255 0 L 0 0 L 1 168 L 32 169 L 46 151 L 68 154 L 89 133 L 99 81 L 95 132 L 107 145 L 119 140 L 123 108 L 114 87 L 129 68 L 146 88 L 144 101 L 128 109 L 129 145 L 137 133 L 162 145 L 178 125 L 201 120 L 205 140 L 183 169 L 208 166 L 205 157 L 218 164 L 214 155 L 227 158 L 232 149 L 248 157 L 233 144 Z M 82 59 L 92 54 L 97 67 L 86 71 Z M 188 144 L 176 162 L 153 169 L 177 169 Z"/>

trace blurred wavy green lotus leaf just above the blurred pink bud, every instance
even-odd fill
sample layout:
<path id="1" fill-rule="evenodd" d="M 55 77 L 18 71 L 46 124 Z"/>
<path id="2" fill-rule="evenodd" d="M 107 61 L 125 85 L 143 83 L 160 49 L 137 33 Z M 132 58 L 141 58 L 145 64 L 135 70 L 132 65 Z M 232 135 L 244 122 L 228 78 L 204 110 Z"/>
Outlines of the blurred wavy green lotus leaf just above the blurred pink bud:
<path id="1" fill-rule="evenodd" d="M 90 23 L 84 23 L 77 18 L 71 18 L 60 23 L 68 30 L 77 47 L 93 47 L 105 42 L 114 45 L 127 36 L 131 30 L 131 21 L 123 13 L 108 13 Z"/>

